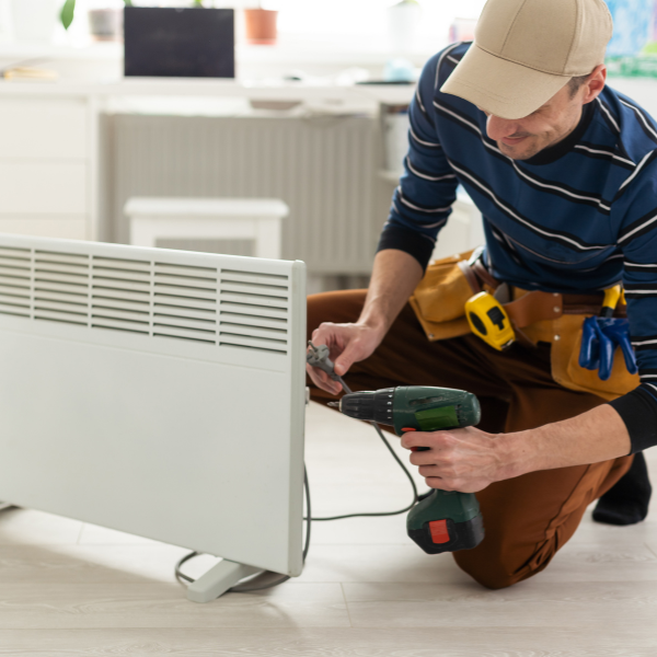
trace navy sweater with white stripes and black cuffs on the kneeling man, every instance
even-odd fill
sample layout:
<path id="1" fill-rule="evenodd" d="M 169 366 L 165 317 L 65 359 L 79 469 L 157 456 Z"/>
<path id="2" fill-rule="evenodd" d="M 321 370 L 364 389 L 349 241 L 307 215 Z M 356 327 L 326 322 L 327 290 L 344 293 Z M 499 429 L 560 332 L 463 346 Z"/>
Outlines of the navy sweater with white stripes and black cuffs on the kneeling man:
<path id="1" fill-rule="evenodd" d="M 656 445 L 657 125 L 606 87 L 566 139 L 514 161 L 487 137 L 483 112 L 439 91 L 469 46 L 449 46 L 424 68 L 379 250 L 400 249 L 426 267 L 460 183 L 482 212 L 499 280 L 553 292 L 622 280 L 642 384 L 612 405 L 634 451 Z"/>

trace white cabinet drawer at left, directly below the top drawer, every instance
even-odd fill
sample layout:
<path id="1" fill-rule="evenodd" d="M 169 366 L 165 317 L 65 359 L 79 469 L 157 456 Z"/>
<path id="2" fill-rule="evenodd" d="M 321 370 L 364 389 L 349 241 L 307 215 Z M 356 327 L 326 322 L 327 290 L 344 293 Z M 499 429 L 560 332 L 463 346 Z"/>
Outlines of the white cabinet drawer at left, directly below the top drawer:
<path id="1" fill-rule="evenodd" d="M 87 215 L 87 164 L 0 160 L 2 215 Z"/>

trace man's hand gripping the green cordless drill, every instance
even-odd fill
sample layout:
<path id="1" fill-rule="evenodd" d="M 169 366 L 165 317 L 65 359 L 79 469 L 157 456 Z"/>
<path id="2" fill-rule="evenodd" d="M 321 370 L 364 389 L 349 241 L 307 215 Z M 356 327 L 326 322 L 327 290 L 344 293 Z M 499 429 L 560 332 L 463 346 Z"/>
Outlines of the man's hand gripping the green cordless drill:
<path id="1" fill-rule="evenodd" d="M 419 474 L 430 488 L 476 493 L 508 476 L 505 441 L 475 427 L 407 431 L 402 437 L 402 447 L 429 448 L 414 451 L 411 463 L 419 466 Z"/>

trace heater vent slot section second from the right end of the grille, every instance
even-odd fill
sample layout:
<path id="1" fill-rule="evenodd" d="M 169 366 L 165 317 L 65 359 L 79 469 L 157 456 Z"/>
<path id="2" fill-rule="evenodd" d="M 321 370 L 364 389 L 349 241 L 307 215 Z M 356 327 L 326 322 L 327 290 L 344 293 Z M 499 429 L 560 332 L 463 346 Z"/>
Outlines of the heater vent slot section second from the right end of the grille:
<path id="1" fill-rule="evenodd" d="M 155 263 L 153 335 L 217 344 L 217 269 Z"/>

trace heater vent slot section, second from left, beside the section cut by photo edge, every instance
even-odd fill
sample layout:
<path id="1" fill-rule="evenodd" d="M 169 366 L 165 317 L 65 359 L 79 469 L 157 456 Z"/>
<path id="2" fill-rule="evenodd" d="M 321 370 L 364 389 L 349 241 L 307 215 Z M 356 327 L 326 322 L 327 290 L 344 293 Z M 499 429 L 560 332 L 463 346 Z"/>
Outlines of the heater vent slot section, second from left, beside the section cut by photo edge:
<path id="1" fill-rule="evenodd" d="M 89 325 L 89 284 L 88 255 L 35 251 L 34 319 Z"/>

